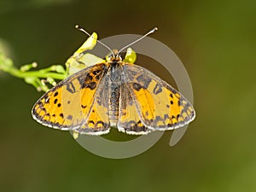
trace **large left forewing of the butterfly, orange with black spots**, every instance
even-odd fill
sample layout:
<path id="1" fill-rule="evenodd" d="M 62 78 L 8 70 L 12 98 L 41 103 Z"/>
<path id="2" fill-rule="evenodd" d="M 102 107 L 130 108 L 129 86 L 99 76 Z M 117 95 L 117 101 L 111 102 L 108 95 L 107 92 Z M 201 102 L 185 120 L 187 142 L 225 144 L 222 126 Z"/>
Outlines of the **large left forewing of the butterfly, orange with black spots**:
<path id="1" fill-rule="evenodd" d="M 101 99 L 98 87 L 106 73 L 106 64 L 101 63 L 61 81 L 36 102 L 32 109 L 33 118 L 43 125 L 61 130 L 75 130 L 88 124 L 93 108 L 100 108 L 96 105 Z M 99 120 L 97 115 L 94 116 L 96 121 Z M 101 117 L 104 122 L 101 129 L 106 130 L 109 122 L 102 118 L 105 116 Z M 90 128 L 98 129 L 97 125 L 90 125 Z"/>

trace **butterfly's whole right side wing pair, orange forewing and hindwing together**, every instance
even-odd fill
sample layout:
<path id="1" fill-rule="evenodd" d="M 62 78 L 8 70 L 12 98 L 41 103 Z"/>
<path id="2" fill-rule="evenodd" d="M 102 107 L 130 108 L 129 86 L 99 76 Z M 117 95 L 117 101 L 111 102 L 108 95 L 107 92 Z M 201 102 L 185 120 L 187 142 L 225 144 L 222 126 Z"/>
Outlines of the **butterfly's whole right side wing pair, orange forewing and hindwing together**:
<path id="1" fill-rule="evenodd" d="M 119 99 L 120 131 L 147 134 L 148 130 L 172 130 L 195 119 L 195 110 L 185 97 L 154 73 L 131 64 L 124 64 L 123 71 L 125 89 L 121 90 Z M 133 122 L 140 129 L 134 129 Z"/>

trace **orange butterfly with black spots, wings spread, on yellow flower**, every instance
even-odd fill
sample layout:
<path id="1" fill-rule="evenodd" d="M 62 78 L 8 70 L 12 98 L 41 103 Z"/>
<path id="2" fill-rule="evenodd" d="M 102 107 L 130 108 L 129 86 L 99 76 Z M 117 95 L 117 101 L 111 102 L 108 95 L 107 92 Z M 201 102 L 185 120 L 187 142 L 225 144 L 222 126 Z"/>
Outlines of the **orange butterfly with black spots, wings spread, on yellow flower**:
<path id="1" fill-rule="evenodd" d="M 166 81 L 112 50 L 108 61 L 86 67 L 46 92 L 33 106 L 32 117 L 79 134 L 102 135 L 117 127 L 145 135 L 189 124 L 195 109 Z"/>

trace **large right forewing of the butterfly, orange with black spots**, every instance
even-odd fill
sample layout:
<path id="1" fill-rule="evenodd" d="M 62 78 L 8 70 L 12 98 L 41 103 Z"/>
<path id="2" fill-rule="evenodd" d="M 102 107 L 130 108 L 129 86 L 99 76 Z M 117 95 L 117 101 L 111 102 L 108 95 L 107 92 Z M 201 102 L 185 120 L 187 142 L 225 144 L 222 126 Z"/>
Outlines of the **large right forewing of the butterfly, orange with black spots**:
<path id="1" fill-rule="evenodd" d="M 192 105 L 170 84 L 137 65 L 123 66 L 127 90 L 137 108 L 140 121 L 149 130 L 172 130 L 195 118 Z M 120 102 L 124 102 L 124 97 Z M 122 111 L 121 104 L 120 108 Z M 122 119 L 122 114 L 120 114 Z M 126 118 L 127 119 L 127 118 Z"/>

